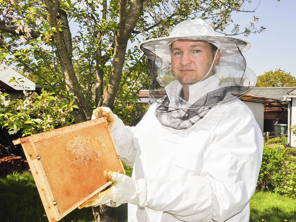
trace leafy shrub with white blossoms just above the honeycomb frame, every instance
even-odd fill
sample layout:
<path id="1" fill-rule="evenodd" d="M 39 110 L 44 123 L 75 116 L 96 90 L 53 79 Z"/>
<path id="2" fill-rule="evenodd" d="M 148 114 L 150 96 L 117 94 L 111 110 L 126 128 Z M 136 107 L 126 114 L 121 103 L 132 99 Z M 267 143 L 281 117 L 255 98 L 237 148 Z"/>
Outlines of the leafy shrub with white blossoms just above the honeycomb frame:
<path id="1" fill-rule="evenodd" d="M 0 125 L 9 134 L 22 131 L 22 136 L 48 131 L 52 128 L 73 124 L 71 111 L 78 108 L 70 100 L 69 104 L 60 99 L 54 92 L 41 90 L 24 91 L 25 97 L 10 100 L 7 93 L 0 91 Z"/>

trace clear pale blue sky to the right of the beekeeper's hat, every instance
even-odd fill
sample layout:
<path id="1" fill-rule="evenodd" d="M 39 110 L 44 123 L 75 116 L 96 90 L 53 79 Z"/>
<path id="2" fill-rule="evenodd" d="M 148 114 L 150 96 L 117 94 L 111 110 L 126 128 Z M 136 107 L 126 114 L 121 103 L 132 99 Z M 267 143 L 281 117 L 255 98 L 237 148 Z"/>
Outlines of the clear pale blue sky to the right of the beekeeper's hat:
<path id="1" fill-rule="evenodd" d="M 252 10 L 259 3 L 253 0 L 245 9 Z M 296 1 L 295 0 L 261 0 L 254 13 L 236 13 L 232 15 L 235 23 L 241 28 L 250 24 L 253 16 L 259 17 L 257 23 L 260 28 L 263 25 L 266 30 L 260 34 L 250 36 L 239 35 L 251 43 L 251 48 L 246 56 L 247 66 L 256 75 L 262 75 L 269 70 L 281 68 L 291 75 L 296 76 L 295 39 L 296 39 Z"/>

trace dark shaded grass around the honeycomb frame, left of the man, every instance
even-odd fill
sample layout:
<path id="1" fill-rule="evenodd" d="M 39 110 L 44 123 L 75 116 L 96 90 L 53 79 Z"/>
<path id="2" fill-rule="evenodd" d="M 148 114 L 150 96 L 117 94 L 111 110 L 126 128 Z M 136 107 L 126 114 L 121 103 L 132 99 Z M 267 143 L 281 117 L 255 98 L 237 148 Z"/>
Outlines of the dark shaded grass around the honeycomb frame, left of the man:
<path id="1" fill-rule="evenodd" d="M 125 222 L 127 205 L 114 211 L 117 222 Z M 91 207 L 76 208 L 61 222 L 92 222 Z M 0 178 L 0 222 L 48 222 L 32 173 L 13 173 Z"/>

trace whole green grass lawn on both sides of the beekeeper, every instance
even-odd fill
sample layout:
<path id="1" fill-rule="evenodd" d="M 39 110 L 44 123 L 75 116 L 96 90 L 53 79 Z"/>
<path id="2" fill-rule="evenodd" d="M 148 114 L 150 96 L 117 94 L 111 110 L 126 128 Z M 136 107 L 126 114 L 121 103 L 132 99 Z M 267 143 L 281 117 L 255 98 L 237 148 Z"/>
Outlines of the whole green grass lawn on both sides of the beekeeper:
<path id="1" fill-rule="evenodd" d="M 131 170 L 127 170 L 131 174 Z M 251 199 L 250 222 L 296 222 L 296 200 L 269 192 L 257 192 Z M 117 222 L 126 222 L 127 206 L 115 208 Z M 0 178 L 1 222 L 47 222 L 30 172 Z M 75 209 L 61 222 L 93 222 L 91 208 Z"/>

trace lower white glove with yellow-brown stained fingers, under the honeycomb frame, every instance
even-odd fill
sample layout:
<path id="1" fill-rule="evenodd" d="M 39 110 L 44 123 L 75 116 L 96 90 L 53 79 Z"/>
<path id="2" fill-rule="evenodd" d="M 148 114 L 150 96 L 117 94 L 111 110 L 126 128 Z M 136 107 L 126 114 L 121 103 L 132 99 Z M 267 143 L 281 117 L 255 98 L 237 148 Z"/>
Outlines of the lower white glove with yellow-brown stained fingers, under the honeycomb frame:
<path id="1" fill-rule="evenodd" d="M 78 208 L 96 207 L 106 204 L 110 207 L 118 207 L 123 203 L 131 203 L 144 207 L 146 201 L 146 181 L 144 178 L 135 180 L 124 174 L 116 173 L 111 170 L 104 170 L 104 177 L 114 184 L 111 188 L 98 193 L 84 202 Z"/>

